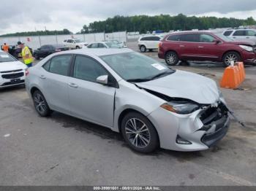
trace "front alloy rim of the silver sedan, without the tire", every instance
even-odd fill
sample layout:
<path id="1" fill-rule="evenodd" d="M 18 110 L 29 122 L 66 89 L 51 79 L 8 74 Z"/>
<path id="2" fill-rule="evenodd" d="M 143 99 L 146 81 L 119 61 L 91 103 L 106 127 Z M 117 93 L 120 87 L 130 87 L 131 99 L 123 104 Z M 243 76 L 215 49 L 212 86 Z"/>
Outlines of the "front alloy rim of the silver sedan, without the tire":
<path id="1" fill-rule="evenodd" d="M 151 141 L 147 125 L 138 118 L 131 118 L 125 125 L 125 134 L 130 143 L 138 148 L 146 148 Z"/>

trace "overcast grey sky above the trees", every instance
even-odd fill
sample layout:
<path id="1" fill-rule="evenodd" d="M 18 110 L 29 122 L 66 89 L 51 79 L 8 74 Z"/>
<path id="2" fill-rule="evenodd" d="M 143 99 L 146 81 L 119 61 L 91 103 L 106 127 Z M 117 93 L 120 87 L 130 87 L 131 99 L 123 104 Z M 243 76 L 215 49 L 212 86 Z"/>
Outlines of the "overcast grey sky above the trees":
<path id="1" fill-rule="evenodd" d="M 19 31 L 78 32 L 84 24 L 114 15 L 170 14 L 254 17 L 255 0 L 8 0 L 0 6 L 0 34 Z"/>

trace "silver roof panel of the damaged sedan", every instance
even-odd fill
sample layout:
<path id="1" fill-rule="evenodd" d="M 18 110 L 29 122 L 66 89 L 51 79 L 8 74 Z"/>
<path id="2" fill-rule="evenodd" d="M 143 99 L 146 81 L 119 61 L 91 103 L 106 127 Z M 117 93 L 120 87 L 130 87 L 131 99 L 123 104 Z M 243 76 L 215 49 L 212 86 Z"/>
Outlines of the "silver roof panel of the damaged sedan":
<path id="1" fill-rule="evenodd" d="M 129 48 L 106 48 L 106 49 L 101 49 L 101 48 L 95 48 L 95 49 L 90 49 L 90 48 L 85 48 L 85 49 L 77 49 L 77 50 L 67 50 L 63 52 L 57 53 L 57 55 L 62 55 L 62 54 L 87 54 L 87 55 L 96 55 L 96 56 L 102 56 L 102 55 L 116 55 L 116 54 L 121 54 L 121 53 L 126 53 L 126 52 L 134 52 L 133 50 Z"/>

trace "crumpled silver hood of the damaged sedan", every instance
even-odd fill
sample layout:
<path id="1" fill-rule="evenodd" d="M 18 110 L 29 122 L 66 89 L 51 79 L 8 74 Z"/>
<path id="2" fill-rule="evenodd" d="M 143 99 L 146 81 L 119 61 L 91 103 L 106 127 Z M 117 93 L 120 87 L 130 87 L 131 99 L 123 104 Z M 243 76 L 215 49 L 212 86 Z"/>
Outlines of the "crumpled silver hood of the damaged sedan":
<path id="1" fill-rule="evenodd" d="M 219 100 L 219 90 L 214 80 L 187 71 L 177 70 L 166 77 L 136 85 L 169 97 L 187 98 L 199 104 L 214 104 Z"/>

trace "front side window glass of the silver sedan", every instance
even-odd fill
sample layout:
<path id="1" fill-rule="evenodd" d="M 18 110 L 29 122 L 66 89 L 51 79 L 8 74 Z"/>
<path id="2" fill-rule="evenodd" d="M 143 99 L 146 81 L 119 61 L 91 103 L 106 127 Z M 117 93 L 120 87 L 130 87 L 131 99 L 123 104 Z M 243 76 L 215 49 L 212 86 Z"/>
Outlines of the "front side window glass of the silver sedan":
<path id="1" fill-rule="evenodd" d="M 108 75 L 108 72 L 93 58 L 77 55 L 75 57 L 73 77 L 89 82 L 97 82 L 97 77 Z"/>

